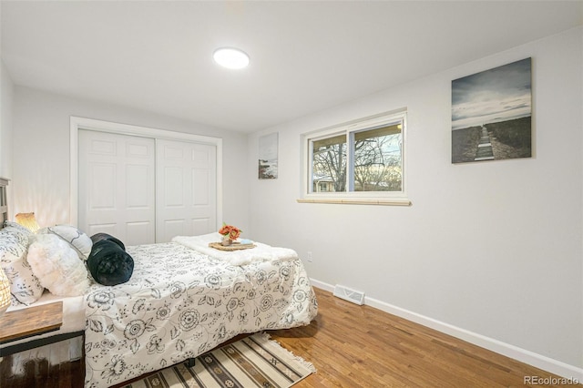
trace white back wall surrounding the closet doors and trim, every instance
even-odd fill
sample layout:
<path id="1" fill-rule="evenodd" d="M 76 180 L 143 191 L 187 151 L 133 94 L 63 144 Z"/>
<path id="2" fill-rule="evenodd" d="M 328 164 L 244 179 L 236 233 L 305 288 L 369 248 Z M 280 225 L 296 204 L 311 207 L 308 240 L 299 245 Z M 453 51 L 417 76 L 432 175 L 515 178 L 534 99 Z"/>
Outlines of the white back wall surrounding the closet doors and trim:
<path id="1" fill-rule="evenodd" d="M 223 218 L 248 228 L 246 136 L 127 107 L 15 87 L 12 214 L 35 211 L 41 226 L 69 222 L 69 118 L 95 118 L 223 139 Z M 242 162 L 241 162 L 242 161 Z"/>

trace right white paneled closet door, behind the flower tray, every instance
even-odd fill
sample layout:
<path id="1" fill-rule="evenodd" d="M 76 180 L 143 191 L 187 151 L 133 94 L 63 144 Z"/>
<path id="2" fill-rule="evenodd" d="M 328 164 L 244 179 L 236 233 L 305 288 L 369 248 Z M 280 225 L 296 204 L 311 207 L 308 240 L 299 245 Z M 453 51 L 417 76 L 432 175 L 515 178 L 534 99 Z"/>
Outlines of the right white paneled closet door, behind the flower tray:
<path id="1" fill-rule="evenodd" d="M 156 140 L 156 242 L 217 230 L 217 148 Z"/>

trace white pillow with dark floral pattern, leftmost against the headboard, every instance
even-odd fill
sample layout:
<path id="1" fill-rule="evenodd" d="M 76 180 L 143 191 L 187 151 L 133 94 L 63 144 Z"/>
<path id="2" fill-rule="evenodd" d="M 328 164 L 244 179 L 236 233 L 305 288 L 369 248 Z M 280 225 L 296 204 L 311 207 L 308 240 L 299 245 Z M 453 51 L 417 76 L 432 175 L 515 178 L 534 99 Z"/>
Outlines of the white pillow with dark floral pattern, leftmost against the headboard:
<path id="1" fill-rule="evenodd" d="M 15 225 L 0 230 L 0 265 L 10 281 L 10 293 L 26 305 L 34 303 L 45 291 L 26 260 L 30 230 Z"/>

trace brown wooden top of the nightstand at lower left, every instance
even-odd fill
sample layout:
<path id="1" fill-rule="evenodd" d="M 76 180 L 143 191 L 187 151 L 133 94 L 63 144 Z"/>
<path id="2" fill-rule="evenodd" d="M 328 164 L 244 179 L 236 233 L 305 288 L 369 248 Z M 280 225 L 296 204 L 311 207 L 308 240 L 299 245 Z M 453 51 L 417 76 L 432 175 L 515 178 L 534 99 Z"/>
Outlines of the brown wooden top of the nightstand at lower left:
<path id="1" fill-rule="evenodd" d="M 63 324 L 63 302 L 7 311 L 0 317 L 0 343 L 54 332 Z"/>

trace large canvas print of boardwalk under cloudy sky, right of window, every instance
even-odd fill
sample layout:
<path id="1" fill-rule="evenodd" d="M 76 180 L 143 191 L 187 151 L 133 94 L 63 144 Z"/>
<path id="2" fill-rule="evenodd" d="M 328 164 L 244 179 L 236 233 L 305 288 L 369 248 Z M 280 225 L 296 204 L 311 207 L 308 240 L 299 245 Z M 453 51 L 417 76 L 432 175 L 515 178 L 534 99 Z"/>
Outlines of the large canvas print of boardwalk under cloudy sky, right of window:
<path id="1" fill-rule="evenodd" d="M 531 58 L 452 81 L 452 163 L 532 157 Z"/>

